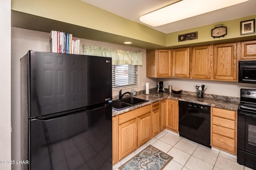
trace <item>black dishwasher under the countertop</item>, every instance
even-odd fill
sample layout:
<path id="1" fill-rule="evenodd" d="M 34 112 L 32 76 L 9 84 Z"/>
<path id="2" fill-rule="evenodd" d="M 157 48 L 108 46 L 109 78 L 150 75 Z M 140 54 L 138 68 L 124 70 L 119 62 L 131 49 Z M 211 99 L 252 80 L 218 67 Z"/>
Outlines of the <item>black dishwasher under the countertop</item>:
<path id="1" fill-rule="evenodd" d="M 210 106 L 179 101 L 180 136 L 210 148 L 210 110 Z"/>

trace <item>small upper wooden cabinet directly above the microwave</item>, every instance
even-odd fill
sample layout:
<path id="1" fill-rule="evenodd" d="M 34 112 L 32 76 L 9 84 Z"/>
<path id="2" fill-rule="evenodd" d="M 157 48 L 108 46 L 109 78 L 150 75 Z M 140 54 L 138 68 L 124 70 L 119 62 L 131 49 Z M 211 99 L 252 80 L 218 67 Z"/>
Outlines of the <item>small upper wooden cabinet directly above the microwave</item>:
<path id="1" fill-rule="evenodd" d="M 241 60 L 244 59 L 256 59 L 256 41 L 241 43 Z"/>

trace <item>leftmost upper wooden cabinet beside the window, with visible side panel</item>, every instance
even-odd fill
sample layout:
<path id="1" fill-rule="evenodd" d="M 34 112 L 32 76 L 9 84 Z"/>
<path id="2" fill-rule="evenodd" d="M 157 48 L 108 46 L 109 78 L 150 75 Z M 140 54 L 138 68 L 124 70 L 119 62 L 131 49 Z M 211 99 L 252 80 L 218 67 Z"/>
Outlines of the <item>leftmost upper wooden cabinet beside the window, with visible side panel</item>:
<path id="1" fill-rule="evenodd" d="M 171 51 L 160 49 L 146 50 L 146 76 L 171 77 Z"/>

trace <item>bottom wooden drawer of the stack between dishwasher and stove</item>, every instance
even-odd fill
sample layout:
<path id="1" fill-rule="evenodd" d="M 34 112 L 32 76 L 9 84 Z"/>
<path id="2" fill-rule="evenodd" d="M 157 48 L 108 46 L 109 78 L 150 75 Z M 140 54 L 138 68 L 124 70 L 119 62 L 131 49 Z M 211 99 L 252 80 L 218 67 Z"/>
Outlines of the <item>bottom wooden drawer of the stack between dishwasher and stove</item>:
<path id="1" fill-rule="evenodd" d="M 212 146 L 236 153 L 235 140 L 217 134 L 212 134 Z"/>

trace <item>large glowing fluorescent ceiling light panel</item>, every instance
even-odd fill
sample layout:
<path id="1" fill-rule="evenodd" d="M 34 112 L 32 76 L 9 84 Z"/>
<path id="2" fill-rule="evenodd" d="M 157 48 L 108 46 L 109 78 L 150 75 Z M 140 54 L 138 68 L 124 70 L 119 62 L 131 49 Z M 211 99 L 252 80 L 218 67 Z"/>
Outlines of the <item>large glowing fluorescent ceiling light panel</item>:
<path id="1" fill-rule="evenodd" d="M 246 1 L 248 0 L 182 0 L 141 16 L 140 21 L 157 27 Z"/>

